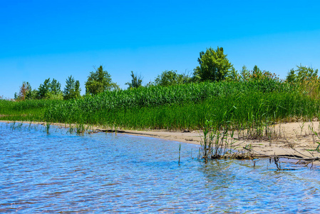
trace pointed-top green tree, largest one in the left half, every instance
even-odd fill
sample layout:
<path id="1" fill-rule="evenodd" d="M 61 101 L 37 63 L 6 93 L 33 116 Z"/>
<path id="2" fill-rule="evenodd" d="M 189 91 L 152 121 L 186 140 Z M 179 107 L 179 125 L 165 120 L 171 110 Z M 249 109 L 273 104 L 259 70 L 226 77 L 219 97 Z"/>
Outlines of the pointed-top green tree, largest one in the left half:
<path id="1" fill-rule="evenodd" d="M 103 66 L 100 66 L 96 72 L 91 71 L 86 81 L 86 94 L 98 94 L 103 91 L 112 91 L 118 89 L 119 86 L 112 82 L 108 71 L 103 71 Z"/>

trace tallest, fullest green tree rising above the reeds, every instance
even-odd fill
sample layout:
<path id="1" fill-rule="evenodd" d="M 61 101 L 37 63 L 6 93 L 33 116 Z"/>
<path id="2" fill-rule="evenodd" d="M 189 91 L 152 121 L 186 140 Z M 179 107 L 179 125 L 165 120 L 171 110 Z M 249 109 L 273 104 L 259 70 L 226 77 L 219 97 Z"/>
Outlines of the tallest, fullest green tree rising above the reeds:
<path id="1" fill-rule="evenodd" d="M 210 48 L 205 52 L 201 51 L 198 62 L 200 66 L 194 70 L 196 81 L 222 81 L 233 68 L 227 59 L 227 54 L 224 54 L 223 48 L 219 47 L 217 50 Z"/>

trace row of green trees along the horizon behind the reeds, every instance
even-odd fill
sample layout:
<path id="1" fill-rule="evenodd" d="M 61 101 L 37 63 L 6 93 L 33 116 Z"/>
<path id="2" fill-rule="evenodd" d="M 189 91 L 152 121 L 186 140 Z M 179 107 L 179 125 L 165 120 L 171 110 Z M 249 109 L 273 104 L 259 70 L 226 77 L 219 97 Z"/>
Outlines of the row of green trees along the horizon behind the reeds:
<path id="1" fill-rule="evenodd" d="M 246 66 L 242 67 L 241 71 L 236 71 L 232 63 L 229 62 L 227 54 L 224 54 L 222 47 L 217 49 L 206 49 L 201 51 L 199 58 L 197 58 L 199 66 L 197 66 L 193 73 L 177 73 L 177 71 L 162 71 L 160 75 L 155 78 L 155 81 L 145 85 L 150 86 L 172 86 L 185 83 L 197 83 L 203 81 L 250 81 L 261 80 L 265 78 L 280 81 L 275 73 L 269 71 L 262 71 L 258 66 L 254 66 L 252 70 L 248 70 Z M 86 96 L 96 95 L 104 91 L 120 90 L 117 83 L 112 81 L 110 73 L 104 71 L 103 66 L 99 66 L 96 71 L 89 73 L 88 79 L 85 83 Z M 292 68 L 285 81 L 289 83 L 298 83 L 302 81 L 310 81 L 311 79 L 319 79 L 318 69 L 296 66 Z M 131 81 L 125 83 L 130 88 L 143 87 L 143 78 L 131 71 Z M 53 78 L 46 79 L 37 89 L 33 89 L 29 82 L 23 82 L 19 93 L 15 93 L 15 100 L 25 99 L 71 99 L 81 98 L 81 88 L 79 81 L 72 76 L 66 79 L 66 86 L 61 91 L 61 83 Z"/>

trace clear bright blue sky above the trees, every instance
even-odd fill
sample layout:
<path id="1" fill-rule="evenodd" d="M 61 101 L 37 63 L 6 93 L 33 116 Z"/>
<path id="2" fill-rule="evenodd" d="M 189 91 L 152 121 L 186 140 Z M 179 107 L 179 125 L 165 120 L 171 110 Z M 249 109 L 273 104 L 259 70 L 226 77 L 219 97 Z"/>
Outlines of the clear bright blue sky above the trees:
<path id="1" fill-rule="evenodd" d="M 255 64 L 285 78 L 320 68 L 320 1 L 0 0 L 0 96 L 23 81 L 84 83 L 103 65 L 121 88 L 165 70 L 191 71 L 200 51 L 222 46 L 234 68 Z"/>

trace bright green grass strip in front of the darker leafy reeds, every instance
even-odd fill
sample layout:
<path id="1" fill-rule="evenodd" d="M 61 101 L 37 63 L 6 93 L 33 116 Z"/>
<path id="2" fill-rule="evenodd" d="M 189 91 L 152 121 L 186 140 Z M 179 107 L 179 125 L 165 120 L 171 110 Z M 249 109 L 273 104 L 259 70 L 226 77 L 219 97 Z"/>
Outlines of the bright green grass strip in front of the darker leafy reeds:
<path id="1" fill-rule="evenodd" d="M 116 125 L 133 129 L 182 130 L 202 128 L 205 121 L 210 120 L 218 127 L 227 124 L 232 128 L 248 128 L 264 126 L 272 121 L 289 120 L 294 116 L 314 118 L 319 115 L 319 105 L 319 101 L 293 93 L 239 93 L 171 106 L 100 109 L 93 112 L 79 109 L 73 110 L 73 113 L 66 111 L 56 120 L 48 118 L 48 121 Z"/>

